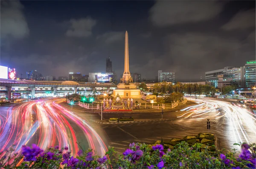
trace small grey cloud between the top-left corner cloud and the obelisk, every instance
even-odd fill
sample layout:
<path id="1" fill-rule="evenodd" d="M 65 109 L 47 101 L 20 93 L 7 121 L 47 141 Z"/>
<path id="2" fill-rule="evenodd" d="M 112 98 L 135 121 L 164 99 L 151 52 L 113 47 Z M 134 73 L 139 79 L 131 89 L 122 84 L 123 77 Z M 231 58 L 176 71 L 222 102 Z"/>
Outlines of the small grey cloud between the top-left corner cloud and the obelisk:
<path id="1" fill-rule="evenodd" d="M 89 37 L 92 34 L 92 28 L 96 25 L 96 20 L 90 17 L 81 18 L 79 20 L 71 19 L 71 27 L 67 30 L 68 37 Z"/>

